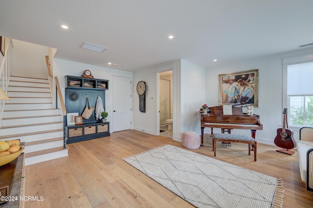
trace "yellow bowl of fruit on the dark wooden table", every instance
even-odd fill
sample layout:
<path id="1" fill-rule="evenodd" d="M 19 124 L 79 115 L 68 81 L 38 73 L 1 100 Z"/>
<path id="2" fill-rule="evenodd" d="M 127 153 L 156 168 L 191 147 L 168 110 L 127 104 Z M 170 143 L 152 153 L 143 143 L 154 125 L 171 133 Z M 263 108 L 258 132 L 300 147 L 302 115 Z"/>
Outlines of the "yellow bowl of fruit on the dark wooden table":
<path id="1" fill-rule="evenodd" d="M 20 156 L 24 146 L 19 140 L 0 141 L 0 166 L 4 166 Z"/>

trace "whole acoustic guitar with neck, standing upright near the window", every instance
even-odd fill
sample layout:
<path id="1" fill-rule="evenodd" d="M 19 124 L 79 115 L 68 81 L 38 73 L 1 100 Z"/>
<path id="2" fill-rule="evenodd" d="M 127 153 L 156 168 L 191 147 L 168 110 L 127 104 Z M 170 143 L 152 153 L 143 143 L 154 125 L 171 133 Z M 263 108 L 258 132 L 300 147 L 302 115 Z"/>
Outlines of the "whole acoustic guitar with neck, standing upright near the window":
<path id="1" fill-rule="evenodd" d="M 287 112 L 287 108 L 284 108 L 283 128 L 277 129 L 277 136 L 274 139 L 274 143 L 276 146 L 284 148 L 276 151 L 292 155 L 294 152 L 289 149 L 293 149 L 296 146 L 296 142 L 293 139 L 293 131 L 288 129 L 288 126 L 286 128 Z"/>

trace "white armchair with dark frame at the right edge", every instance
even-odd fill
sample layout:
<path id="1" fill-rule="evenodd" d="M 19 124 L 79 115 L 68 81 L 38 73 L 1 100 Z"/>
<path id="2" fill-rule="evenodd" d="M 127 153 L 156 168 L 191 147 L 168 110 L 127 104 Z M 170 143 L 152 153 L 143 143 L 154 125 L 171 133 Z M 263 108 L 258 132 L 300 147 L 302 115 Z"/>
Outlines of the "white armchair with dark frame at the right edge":
<path id="1" fill-rule="evenodd" d="M 306 183 L 306 188 L 313 191 L 313 128 L 300 129 L 300 140 L 297 141 L 301 180 Z"/>

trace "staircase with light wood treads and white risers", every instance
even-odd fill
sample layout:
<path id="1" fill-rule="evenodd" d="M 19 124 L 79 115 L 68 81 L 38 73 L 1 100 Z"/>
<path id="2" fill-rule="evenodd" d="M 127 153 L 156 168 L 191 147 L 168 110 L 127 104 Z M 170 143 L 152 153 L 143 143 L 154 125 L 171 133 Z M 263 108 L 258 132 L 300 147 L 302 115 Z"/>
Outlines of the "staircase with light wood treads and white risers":
<path id="1" fill-rule="evenodd" d="M 52 108 L 47 79 L 11 76 L 0 140 L 25 142 L 25 165 L 68 156 L 63 148 L 63 116 Z"/>

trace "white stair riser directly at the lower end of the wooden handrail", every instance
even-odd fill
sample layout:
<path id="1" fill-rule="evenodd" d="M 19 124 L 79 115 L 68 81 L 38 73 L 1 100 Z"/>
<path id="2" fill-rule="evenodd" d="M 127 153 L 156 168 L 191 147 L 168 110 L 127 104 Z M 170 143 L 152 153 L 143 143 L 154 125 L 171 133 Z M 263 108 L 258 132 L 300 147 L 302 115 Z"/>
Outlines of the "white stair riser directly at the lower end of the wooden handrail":
<path id="1" fill-rule="evenodd" d="M 4 119 L 4 120 L 2 120 L 2 126 L 40 124 L 43 121 L 44 122 L 60 122 L 60 121 L 62 122 L 63 121 L 63 116 Z"/>

